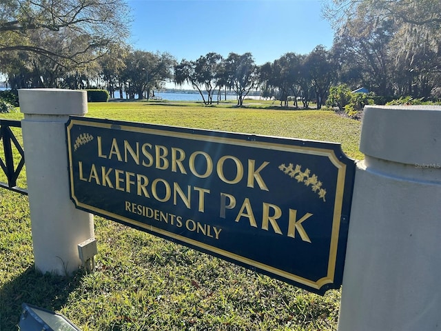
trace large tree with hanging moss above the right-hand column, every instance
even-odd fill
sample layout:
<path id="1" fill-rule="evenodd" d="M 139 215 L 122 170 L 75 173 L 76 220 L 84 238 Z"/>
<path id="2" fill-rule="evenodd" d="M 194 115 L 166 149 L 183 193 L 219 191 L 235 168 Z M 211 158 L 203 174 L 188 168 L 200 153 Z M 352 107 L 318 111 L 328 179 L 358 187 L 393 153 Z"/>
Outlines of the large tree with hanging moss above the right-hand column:
<path id="1" fill-rule="evenodd" d="M 389 82 L 393 82 L 392 86 L 387 87 L 391 92 L 411 94 L 417 98 L 430 97 L 431 89 L 439 85 L 441 1 L 329 0 L 323 13 L 340 36 L 345 30 L 354 39 L 362 37 L 366 40 L 368 34 L 372 33 L 382 37 L 382 52 L 389 53 L 386 57 L 382 56 L 381 61 L 384 68 L 389 68 L 384 75 Z M 374 62 L 378 67 L 380 61 L 370 61 Z M 381 91 L 384 88 L 383 82 L 378 88 L 380 93 L 385 93 Z"/>

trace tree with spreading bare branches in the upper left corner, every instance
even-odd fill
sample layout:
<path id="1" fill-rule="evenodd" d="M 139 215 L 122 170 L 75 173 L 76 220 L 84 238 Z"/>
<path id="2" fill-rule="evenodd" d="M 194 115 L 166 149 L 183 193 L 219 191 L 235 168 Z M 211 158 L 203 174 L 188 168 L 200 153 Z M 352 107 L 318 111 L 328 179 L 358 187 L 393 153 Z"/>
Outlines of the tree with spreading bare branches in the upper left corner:
<path id="1" fill-rule="evenodd" d="M 3 0 L 0 54 L 31 52 L 81 66 L 128 37 L 128 12 L 124 0 Z M 57 38 L 53 48 L 48 40 Z"/>

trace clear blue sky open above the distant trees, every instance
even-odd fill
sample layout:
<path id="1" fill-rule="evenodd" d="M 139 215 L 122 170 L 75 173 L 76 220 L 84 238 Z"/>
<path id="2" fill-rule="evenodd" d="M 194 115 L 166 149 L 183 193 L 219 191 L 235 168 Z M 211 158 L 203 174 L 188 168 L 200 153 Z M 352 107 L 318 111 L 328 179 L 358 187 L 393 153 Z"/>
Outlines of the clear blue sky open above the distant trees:
<path id="1" fill-rule="evenodd" d="M 318 0 L 127 0 L 132 46 L 169 52 L 178 61 L 208 52 L 251 52 L 256 64 L 287 52 L 332 46 L 334 32 Z"/>

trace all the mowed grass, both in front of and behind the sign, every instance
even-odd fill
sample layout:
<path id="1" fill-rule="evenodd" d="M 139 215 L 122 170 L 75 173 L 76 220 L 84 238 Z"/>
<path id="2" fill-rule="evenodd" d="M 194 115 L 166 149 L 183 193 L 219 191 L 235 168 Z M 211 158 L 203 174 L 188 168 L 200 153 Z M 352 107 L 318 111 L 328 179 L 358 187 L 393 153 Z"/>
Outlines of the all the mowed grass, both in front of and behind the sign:
<path id="1" fill-rule="evenodd" d="M 87 116 L 336 141 L 349 157 L 362 159 L 360 122 L 328 111 L 271 108 L 271 102 L 248 108 L 90 103 Z M 23 175 L 19 182 L 25 185 Z M 17 330 L 23 302 L 60 312 L 84 331 L 337 328 L 338 290 L 320 297 L 101 217 L 94 223 L 99 249 L 94 272 L 39 274 L 33 268 L 28 197 L 0 189 L 1 331 Z"/>

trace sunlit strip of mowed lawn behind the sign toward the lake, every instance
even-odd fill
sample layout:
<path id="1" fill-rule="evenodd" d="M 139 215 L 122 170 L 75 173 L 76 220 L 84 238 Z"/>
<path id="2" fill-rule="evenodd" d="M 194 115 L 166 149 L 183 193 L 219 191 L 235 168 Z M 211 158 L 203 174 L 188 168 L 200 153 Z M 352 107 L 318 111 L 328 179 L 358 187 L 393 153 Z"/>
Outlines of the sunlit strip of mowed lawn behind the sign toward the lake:
<path id="1" fill-rule="evenodd" d="M 88 117 L 139 121 L 277 137 L 342 143 L 345 153 L 362 159 L 358 150 L 361 122 L 325 110 L 280 108 L 272 101 L 254 101 L 247 108 L 234 103 L 205 107 L 201 103 L 90 103 Z"/>

